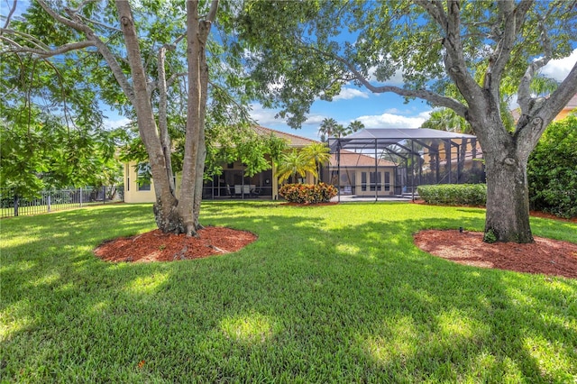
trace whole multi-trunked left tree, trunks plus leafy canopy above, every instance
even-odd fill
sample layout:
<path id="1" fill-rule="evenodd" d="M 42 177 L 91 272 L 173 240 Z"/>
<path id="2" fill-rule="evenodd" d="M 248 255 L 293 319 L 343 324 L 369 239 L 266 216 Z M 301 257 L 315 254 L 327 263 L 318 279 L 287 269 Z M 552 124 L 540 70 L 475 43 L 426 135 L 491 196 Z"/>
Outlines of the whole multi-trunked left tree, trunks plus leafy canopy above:
<path id="1" fill-rule="evenodd" d="M 50 103 L 70 103 L 83 92 L 78 107 L 87 114 L 97 117 L 98 100 L 133 120 L 140 142 L 126 153 L 146 153 L 157 224 L 164 232 L 192 235 L 200 227 L 206 130 L 245 122 L 252 97 L 238 51 L 223 48 L 236 6 L 218 0 L 38 0 L 21 16 L 6 16 L 2 56 L 21 69 L 14 82 L 32 79 L 28 89 Z M 19 96 L 24 103 L 34 99 Z M 174 149 L 182 151 L 173 156 Z M 179 191 L 173 166 L 182 169 Z"/>

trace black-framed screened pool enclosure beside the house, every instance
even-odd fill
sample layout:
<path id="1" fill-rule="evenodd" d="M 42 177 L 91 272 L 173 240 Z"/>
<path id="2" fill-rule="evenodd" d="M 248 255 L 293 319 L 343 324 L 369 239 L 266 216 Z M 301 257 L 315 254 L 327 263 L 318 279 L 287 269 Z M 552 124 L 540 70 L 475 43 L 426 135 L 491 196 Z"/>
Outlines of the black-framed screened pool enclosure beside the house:
<path id="1" fill-rule="evenodd" d="M 417 196 L 417 187 L 485 181 L 475 136 L 432 129 L 363 129 L 330 138 L 331 163 L 323 178 L 341 197 Z"/>

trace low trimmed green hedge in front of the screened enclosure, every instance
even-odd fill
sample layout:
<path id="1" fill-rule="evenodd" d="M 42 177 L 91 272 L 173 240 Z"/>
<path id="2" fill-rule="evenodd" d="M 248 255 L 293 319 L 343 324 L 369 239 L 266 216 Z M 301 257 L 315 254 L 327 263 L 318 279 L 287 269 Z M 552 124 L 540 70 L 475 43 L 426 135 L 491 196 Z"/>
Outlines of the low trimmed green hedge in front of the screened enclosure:
<path id="1" fill-rule="evenodd" d="M 419 197 L 428 204 L 445 206 L 484 206 L 487 202 L 485 184 L 441 184 L 437 186 L 419 186 Z"/>

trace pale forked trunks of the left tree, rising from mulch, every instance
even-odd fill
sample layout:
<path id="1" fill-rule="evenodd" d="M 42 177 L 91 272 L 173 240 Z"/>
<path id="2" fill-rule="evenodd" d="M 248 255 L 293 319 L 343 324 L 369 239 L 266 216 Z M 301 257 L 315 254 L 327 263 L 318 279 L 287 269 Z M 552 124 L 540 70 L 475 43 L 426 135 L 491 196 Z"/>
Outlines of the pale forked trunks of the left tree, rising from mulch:
<path id="1" fill-rule="evenodd" d="M 124 40 L 133 74 L 133 105 L 136 110 L 142 142 L 148 152 L 151 174 L 156 193 L 153 211 L 156 224 L 164 233 L 186 233 L 196 235 L 200 227 L 198 215 L 202 198 L 202 178 L 204 172 L 205 110 L 208 87 L 208 67 L 206 64 L 206 39 L 215 18 L 218 1 L 211 3 L 206 20 L 200 20 L 198 1 L 187 1 L 187 59 L 188 59 L 188 109 L 185 153 L 182 167 L 182 183 L 179 198 L 173 182 L 169 156 L 168 129 L 166 116 L 160 115 L 160 133 L 152 112 L 151 99 L 147 91 L 147 79 L 142 67 L 142 56 L 133 24 L 130 5 L 117 1 L 119 17 L 123 26 Z M 160 90 L 166 92 L 163 76 L 163 55 L 160 49 Z M 160 112 L 165 112 L 166 95 L 161 97 Z M 163 104 L 164 103 L 164 104 Z"/>

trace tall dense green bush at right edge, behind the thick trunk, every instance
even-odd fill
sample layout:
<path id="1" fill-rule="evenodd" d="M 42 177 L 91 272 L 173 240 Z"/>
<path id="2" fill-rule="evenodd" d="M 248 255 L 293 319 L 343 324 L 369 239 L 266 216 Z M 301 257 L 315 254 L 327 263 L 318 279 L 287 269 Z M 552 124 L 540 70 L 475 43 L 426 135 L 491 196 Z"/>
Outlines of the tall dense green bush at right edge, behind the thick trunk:
<path id="1" fill-rule="evenodd" d="M 534 209 L 577 216 L 577 116 L 549 125 L 527 164 Z"/>

